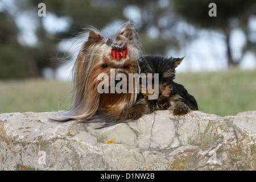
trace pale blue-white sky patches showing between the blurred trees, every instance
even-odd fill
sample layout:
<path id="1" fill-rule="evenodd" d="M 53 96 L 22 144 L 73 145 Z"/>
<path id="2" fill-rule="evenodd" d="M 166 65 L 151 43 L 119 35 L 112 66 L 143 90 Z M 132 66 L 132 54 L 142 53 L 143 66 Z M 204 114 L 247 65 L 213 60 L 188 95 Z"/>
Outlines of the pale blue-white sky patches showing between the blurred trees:
<path id="1" fill-rule="evenodd" d="M 168 1 L 159 0 L 159 4 L 161 6 L 168 6 Z M 13 0 L 1 0 L 0 11 L 3 10 L 3 7 L 8 9 L 11 14 L 15 14 L 17 11 L 15 9 Z M 125 15 L 127 19 L 130 19 L 131 22 L 133 22 L 135 26 L 137 26 L 137 28 L 141 27 L 142 16 L 137 6 L 127 6 L 123 11 L 123 15 Z M 27 46 L 35 46 L 35 44 L 38 43 L 38 39 L 35 35 L 35 29 L 37 27 L 36 20 L 31 17 L 34 17 L 31 15 L 31 12 L 23 12 L 20 13 L 19 16 L 15 16 L 15 23 L 20 30 L 18 40 L 20 44 L 24 44 Z M 46 27 L 46 30 L 52 34 L 55 32 L 67 30 L 71 21 L 72 19 L 69 17 L 57 17 L 55 14 L 48 12 L 46 13 L 46 17 L 43 17 L 44 27 Z M 164 23 L 164 19 L 162 20 L 162 23 Z M 118 30 L 121 24 L 122 21 L 116 20 L 115 22 L 109 24 L 107 27 L 101 30 L 101 32 L 103 35 L 112 33 L 114 34 L 114 32 Z M 200 34 L 199 38 L 192 40 L 191 43 L 185 44 L 185 46 L 183 46 L 180 51 L 172 49 L 167 51 L 166 54 L 168 57 L 183 57 L 184 55 L 186 56 L 183 62 L 179 65 L 179 67 L 177 67 L 177 73 L 221 71 L 228 68 L 226 61 L 227 57 L 225 42 L 223 36 L 220 33 L 208 30 L 196 30 L 196 28 L 189 25 L 185 21 L 181 21 L 177 28 L 180 28 L 180 30 L 190 28 L 191 31 L 199 31 Z M 251 32 L 254 32 L 249 35 L 250 38 L 256 41 L 256 16 L 251 16 L 249 21 L 249 28 Z M 147 35 L 150 39 L 156 39 L 159 35 L 158 27 L 149 28 Z M 245 39 L 245 34 L 239 28 L 232 31 L 230 41 L 232 44 L 232 52 L 234 53 L 234 57 L 241 56 L 241 47 L 245 44 Z M 59 48 L 69 52 L 73 49 L 72 43 L 72 40 L 64 40 L 59 44 Z M 79 47 L 79 44 L 76 44 L 75 46 L 77 48 Z M 76 53 L 77 51 L 78 49 L 76 49 Z M 64 63 L 57 69 L 57 79 L 71 80 L 73 61 L 67 61 L 67 63 Z M 247 52 L 243 57 L 240 68 L 255 69 L 255 55 L 251 52 Z M 45 69 L 44 76 L 46 78 L 52 78 L 53 72 L 51 71 L 51 69 Z"/>

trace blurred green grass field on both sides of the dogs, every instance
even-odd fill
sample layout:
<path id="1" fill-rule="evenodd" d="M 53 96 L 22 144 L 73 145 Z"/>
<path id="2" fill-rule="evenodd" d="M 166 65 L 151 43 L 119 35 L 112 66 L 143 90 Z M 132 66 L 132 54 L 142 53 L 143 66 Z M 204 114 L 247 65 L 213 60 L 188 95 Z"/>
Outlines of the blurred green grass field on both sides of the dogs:
<path id="1" fill-rule="evenodd" d="M 180 73 L 175 81 L 205 113 L 225 116 L 256 110 L 256 70 Z M 0 113 L 65 110 L 71 90 L 71 82 L 56 80 L 0 81 Z"/>

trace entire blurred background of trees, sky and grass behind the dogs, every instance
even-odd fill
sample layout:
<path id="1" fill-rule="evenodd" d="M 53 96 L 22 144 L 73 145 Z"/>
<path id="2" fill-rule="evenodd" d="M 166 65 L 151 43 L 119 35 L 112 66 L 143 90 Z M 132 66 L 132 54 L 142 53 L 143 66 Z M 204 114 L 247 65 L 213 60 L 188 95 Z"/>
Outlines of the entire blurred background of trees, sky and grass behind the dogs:
<path id="1" fill-rule="evenodd" d="M 0 113 L 68 109 L 76 35 L 93 26 L 112 38 L 127 20 L 145 53 L 186 55 L 175 80 L 201 111 L 256 110 L 254 0 L 0 0 Z"/>

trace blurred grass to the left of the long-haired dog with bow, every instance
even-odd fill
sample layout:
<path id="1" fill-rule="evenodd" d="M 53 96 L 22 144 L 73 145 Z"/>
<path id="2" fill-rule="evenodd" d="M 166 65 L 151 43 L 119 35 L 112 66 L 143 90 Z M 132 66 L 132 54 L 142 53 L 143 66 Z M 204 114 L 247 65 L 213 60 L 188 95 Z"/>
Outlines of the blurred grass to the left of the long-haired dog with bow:
<path id="1" fill-rule="evenodd" d="M 71 82 L 56 80 L 0 82 L 0 113 L 65 110 L 71 89 Z"/>

